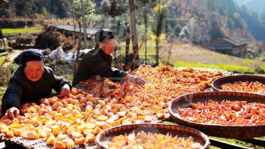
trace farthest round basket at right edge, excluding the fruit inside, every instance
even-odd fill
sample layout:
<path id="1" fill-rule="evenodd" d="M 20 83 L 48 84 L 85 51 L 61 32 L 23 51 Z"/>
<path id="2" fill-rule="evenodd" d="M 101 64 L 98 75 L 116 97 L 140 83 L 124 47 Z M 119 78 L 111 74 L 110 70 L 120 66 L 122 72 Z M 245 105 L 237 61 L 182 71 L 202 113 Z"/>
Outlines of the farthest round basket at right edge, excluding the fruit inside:
<path id="1" fill-rule="evenodd" d="M 264 76 L 257 76 L 257 75 L 231 75 L 231 76 L 224 76 L 215 79 L 211 83 L 211 87 L 213 90 L 222 91 L 220 86 L 224 83 L 234 83 L 234 81 L 259 81 L 265 84 L 265 77 Z"/>

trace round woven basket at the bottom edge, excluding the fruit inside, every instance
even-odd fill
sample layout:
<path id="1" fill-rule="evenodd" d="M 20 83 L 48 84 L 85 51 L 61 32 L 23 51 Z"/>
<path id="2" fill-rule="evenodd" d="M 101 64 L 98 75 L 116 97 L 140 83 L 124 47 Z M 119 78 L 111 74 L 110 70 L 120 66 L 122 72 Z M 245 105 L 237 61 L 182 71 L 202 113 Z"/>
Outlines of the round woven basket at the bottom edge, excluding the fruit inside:
<path id="1" fill-rule="evenodd" d="M 130 134 L 134 131 L 137 134 L 139 131 L 144 131 L 145 133 L 157 133 L 166 135 L 171 133 L 173 136 L 178 135 L 179 137 L 189 138 L 190 136 L 194 138 L 195 142 L 199 142 L 201 147 L 199 149 L 208 149 L 210 142 L 207 136 L 198 130 L 177 126 L 169 124 L 152 124 L 152 123 L 141 123 L 141 124 L 131 124 L 113 127 L 102 131 L 97 135 L 96 144 L 99 149 L 108 149 L 108 143 L 113 140 L 115 136 L 125 135 L 125 133 Z"/>

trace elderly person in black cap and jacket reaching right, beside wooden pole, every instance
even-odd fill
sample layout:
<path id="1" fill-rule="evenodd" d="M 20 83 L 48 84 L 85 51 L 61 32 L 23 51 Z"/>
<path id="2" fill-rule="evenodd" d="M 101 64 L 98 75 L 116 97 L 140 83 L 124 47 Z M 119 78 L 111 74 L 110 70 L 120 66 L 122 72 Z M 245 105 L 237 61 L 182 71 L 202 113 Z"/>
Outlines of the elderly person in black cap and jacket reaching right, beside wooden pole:
<path id="1" fill-rule="evenodd" d="M 139 77 L 126 74 L 111 67 L 112 52 L 116 47 L 116 40 L 111 29 L 100 29 L 95 33 L 95 48 L 88 51 L 82 58 L 72 85 L 86 79 L 100 79 L 109 77 L 112 80 L 129 80 L 136 85 L 144 85 L 145 81 Z"/>

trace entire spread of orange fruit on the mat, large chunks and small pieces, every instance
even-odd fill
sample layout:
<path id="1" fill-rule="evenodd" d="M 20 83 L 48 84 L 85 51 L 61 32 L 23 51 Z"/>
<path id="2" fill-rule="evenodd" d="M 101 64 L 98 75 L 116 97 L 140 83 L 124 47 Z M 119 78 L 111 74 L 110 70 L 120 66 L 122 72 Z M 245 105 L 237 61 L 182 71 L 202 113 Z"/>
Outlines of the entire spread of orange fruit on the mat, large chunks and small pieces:
<path id="1" fill-rule="evenodd" d="M 127 81 L 122 85 L 106 78 L 80 82 L 88 92 L 73 88 L 67 97 L 43 98 L 40 105 L 26 103 L 21 106 L 24 116 L 0 119 L 0 132 L 8 137 L 45 138 L 58 149 L 71 148 L 94 142 L 104 129 L 151 122 L 153 115 L 165 118 L 173 98 L 202 92 L 212 80 L 224 76 L 170 66 L 145 66 L 129 74 L 145 79 L 145 86 L 139 88 Z"/>

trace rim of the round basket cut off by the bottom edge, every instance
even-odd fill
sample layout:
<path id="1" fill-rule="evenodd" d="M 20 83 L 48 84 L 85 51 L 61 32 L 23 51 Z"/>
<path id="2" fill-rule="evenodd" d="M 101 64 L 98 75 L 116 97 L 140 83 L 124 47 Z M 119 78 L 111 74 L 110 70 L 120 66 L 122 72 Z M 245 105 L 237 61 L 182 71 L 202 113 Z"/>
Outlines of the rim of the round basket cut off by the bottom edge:
<path id="1" fill-rule="evenodd" d="M 198 132 L 200 137 L 204 138 L 205 139 L 205 143 L 204 145 L 201 147 L 203 149 L 209 147 L 210 145 L 210 141 L 209 141 L 209 138 L 204 134 L 202 133 L 201 131 L 197 130 L 197 129 L 194 129 L 194 128 L 191 128 L 191 127 L 187 127 L 187 126 L 182 126 L 182 125 L 173 125 L 173 124 L 161 124 L 161 123 L 138 123 L 138 124 L 129 124 L 129 125 L 119 125 L 119 126 L 115 126 L 115 127 L 112 127 L 112 128 L 109 128 L 109 129 L 106 129 L 102 132 L 100 132 L 97 137 L 96 137 L 96 140 L 95 140 L 95 143 L 97 144 L 97 146 L 102 146 L 101 144 L 101 141 L 100 141 L 100 137 L 105 134 L 106 132 L 110 131 L 110 130 L 115 130 L 117 128 L 123 128 L 123 127 L 129 127 L 129 126 L 134 126 L 134 127 L 137 127 L 137 126 L 145 126 L 145 127 L 152 127 L 152 126 L 172 126 L 172 127 L 179 127 L 179 128 L 186 128 L 186 129 L 190 129 L 190 130 L 193 130 L 195 132 Z M 187 133 L 187 132 L 186 132 Z M 198 136 L 199 137 L 199 136 Z M 201 139 L 201 138 L 200 138 Z M 201 139 L 203 140 L 203 139 Z M 204 141 L 204 140 L 203 140 Z M 102 146 L 103 147 L 103 146 Z"/>

